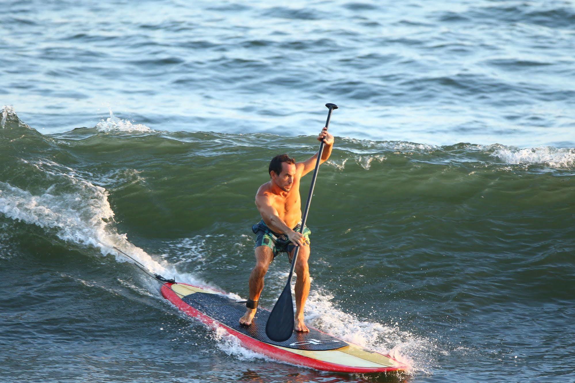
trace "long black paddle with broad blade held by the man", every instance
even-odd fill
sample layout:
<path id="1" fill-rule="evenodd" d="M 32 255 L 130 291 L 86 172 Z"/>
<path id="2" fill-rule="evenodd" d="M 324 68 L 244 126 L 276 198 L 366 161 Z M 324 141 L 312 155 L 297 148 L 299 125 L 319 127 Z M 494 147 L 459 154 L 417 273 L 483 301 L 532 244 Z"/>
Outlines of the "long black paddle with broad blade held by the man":
<path id="1" fill-rule="evenodd" d="M 325 127 L 329 128 L 329 119 L 331 118 L 331 112 L 333 109 L 338 109 L 335 104 L 325 104 L 329 109 L 327 113 L 327 121 L 325 121 Z M 313 170 L 312 185 L 309 186 L 309 196 L 308 202 L 305 204 L 304 216 L 301 219 L 300 233 L 304 233 L 305 221 L 308 219 L 309 205 L 312 202 L 313 187 L 316 185 L 317 170 L 320 167 L 321 153 L 323 152 L 324 142 L 320 143 L 320 150 L 317 152 L 316 168 Z M 301 246 L 301 245 L 300 245 Z M 297 253 L 300 251 L 300 246 L 296 246 L 296 251 L 294 251 L 292 259 L 292 267 L 289 270 L 289 275 L 287 276 L 287 284 L 278 301 L 275 302 L 274 308 L 271 310 L 270 316 L 266 323 L 266 335 L 274 342 L 284 342 L 292 336 L 293 332 L 293 301 L 292 301 L 292 277 L 293 269 L 296 267 Z"/>

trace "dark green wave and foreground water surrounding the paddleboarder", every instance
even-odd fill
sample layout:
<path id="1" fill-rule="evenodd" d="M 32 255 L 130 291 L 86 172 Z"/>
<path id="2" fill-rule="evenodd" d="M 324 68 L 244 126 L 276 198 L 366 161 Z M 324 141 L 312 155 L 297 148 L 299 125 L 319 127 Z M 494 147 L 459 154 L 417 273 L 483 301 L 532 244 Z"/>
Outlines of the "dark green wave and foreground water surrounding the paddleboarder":
<path id="1" fill-rule="evenodd" d="M 40 360 L 32 380 L 183 379 L 185 360 L 199 381 L 362 381 L 254 359 L 175 312 L 114 250 L 246 297 L 255 191 L 272 156 L 304 160 L 314 137 L 155 131 L 113 116 L 43 135 L 13 108 L 2 116 L 2 374 Z M 575 330 L 574 158 L 573 148 L 336 137 L 308 218 L 310 323 L 409 362 L 415 381 L 561 380 Z M 287 270 L 283 257 L 273 263 L 264 306 Z M 56 369 L 62 358 L 75 367 Z"/>

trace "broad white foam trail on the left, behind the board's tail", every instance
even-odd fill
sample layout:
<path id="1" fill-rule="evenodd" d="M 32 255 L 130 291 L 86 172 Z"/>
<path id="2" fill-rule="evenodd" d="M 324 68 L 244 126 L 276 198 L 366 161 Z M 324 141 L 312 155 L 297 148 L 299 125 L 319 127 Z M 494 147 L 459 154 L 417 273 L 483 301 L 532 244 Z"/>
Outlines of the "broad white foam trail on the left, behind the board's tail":
<path id="1" fill-rule="evenodd" d="M 13 220 L 51 229 L 57 238 L 82 246 L 97 248 L 101 254 L 128 261 L 114 247 L 126 252 L 147 269 L 166 277 L 177 276 L 191 283 L 204 284 L 192 274 L 179 273 L 165 262 L 160 264 L 149 254 L 129 242 L 113 225 L 114 212 L 108 191 L 81 178 L 73 169 L 55 162 L 30 163 L 54 182 L 43 193 L 0 182 L 0 213 Z"/>

